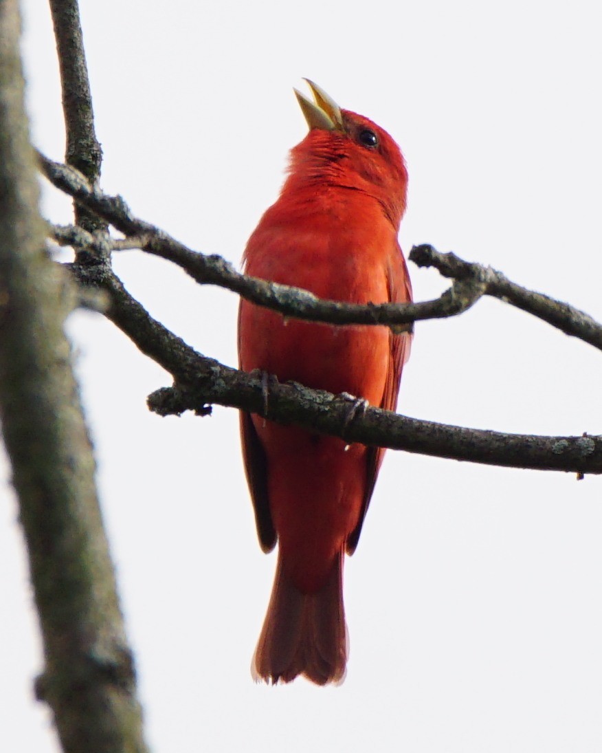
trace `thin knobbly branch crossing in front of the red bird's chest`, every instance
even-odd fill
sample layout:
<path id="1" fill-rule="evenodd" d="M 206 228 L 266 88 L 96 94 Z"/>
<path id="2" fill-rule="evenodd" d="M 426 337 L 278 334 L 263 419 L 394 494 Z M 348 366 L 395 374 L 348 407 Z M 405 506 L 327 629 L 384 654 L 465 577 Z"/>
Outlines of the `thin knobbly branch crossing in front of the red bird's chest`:
<path id="1" fill-rule="evenodd" d="M 584 312 L 554 298 L 521 288 L 490 267 L 462 261 L 455 254 L 436 252 L 430 245 L 415 246 L 409 258 L 420 267 L 436 267 L 443 276 L 453 278 L 454 282 L 439 298 L 421 303 L 367 306 L 340 303 L 321 300 L 301 288 L 242 275 L 220 256 L 193 252 L 163 230 L 135 218 L 121 197 L 103 194 L 98 187 L 90 186 L 84 176 L 74 169 L 53 162 L 43 154 L 39 154 L 39 158 L 44 175 L 57 188 L 77 198 L 126 236 L 135 236 L 144 241 L 144 251 L 178 264 L 200 284 L 220 285 L 283 316 L 333 325 L 388 325 L 399 333 L 411 330 L 413 322 L 456 316 L 470 308 L 482 295 L 490 295 L 602 349 L 602 325 Z M 55 230 L 55 235 L 57 232 Z M 80 235 L 78 242 L 84 241 L 85 237 Z M 90 242 L 93 245 L 95 241 L 90 239 Z"/>

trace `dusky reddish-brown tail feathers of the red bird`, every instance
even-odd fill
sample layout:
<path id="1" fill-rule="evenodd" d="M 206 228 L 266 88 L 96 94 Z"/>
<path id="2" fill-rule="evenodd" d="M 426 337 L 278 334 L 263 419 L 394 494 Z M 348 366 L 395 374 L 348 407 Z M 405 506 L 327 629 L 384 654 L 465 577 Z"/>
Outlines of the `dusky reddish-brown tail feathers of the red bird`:
<path id="1" fill-rule="evenodd" d="M 268 613 L 251 665 L 256 681 L 290 682 L 297 675 L 318 685 L 345 679 L 348 640 L 342 595 L 343 553 L 316 593 L 303 593 L 278 566 Z"/>

